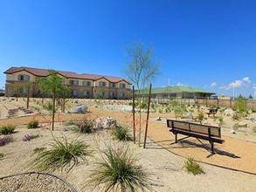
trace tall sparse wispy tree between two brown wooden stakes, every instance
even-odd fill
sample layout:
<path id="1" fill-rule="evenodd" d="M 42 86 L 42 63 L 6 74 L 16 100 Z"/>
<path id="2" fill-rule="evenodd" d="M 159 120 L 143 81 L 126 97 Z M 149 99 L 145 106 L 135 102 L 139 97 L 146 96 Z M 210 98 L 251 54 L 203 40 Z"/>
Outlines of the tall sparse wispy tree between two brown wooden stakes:
<path id="1" fill-rule="evenodd" d="M 126 51 L 128 61 L 123 67 L 123 72 L 127 75 L 128 80 L 135 85 L 139 98 L 140 128 L 138 143 L 140 146 L 142 131 L 142 89 L 159 75 L 160 62 L 156 62 L 153 58 L 153 48 L 145 48 L 140 41 L 126 46 Z"/>

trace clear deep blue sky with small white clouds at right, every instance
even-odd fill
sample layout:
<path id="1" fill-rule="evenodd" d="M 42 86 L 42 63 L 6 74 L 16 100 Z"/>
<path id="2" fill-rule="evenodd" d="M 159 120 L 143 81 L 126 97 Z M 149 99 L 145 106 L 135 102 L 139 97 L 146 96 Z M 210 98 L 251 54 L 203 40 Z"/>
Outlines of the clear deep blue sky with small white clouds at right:
<path id="1" fill-rule="evenodd" d="M 154 48 L 153 87 L 254 95 L 254 0 L 2 0 L 0 88 L 10 66 L 126 78 L 125 46 Z M 256 96 L 256 95 L 255 95 Z"/>

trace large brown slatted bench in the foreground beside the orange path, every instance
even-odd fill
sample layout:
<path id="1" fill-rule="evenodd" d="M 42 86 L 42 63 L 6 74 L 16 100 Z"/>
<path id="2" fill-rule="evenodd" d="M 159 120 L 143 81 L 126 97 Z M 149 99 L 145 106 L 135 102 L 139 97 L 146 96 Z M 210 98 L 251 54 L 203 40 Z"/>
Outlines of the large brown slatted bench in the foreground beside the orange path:
<path id="1" fill-rule="evenodd" d="M 211 143 L 211 154 L 215 154 L 215 142 L 220 144 L 225 142 L 221 139 L 220 127 L 201 125 L 180 120 L 167 120 L 167 127 L 170 127 L 170 132 L 175 134 L 175 142 L 181 141 L 188 137 L 195 137 L 197 141 L 200 141 L 199 139 L 209 141 Z M 187 135 L 187 137 L 177 140 L 177 134 Z M 204 145 L 202 141 L 200 142 Z"/>

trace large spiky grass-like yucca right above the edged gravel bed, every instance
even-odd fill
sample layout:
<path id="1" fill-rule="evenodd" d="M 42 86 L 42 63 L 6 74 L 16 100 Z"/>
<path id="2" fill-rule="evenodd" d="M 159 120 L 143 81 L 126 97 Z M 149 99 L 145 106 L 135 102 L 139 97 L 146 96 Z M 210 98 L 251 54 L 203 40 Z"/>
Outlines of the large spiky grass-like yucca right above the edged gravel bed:
<path id="1" fill-rule="evenodd" d="M 37 169 L 38 171 L 54 171 L 65 168 L 68 173 L 79 163 L 79 158 L 86 161 L 86 157 L 92 154 L 83 141 L 73 140 L 67 141 L 66 136 L 60 139 L 55 139 L 49 144 L 51 148 L 46 149 L 38 154 L 31 161 L 29 168 Z"/>

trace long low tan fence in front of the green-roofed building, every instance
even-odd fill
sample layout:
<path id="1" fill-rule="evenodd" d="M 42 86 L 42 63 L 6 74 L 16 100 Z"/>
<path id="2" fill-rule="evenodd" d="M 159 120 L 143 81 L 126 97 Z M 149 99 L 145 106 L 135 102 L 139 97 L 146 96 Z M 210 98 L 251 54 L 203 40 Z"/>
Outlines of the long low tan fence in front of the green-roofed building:
<path id="1" fill-rule="evenodd" d="M 148 99 L 147 97 L 142 97 L 142 100 Z M 234 108 L 238 99 L 178 99 L 178 98 L 151 98 L 151 102 L 157 102 L 161 104 L 171 104 L 171 102 L 183 103 L 186 105 L 199 105 L 199 106 L 215 106 L 215 107 L 226 107 Z M 256 99 L 244 99 L 243 102 L 247 109 L 256 111 Z"/>

